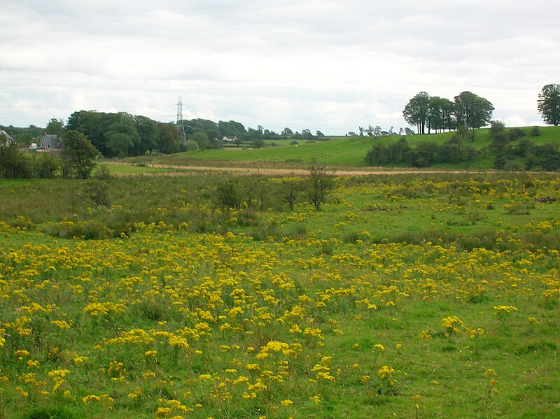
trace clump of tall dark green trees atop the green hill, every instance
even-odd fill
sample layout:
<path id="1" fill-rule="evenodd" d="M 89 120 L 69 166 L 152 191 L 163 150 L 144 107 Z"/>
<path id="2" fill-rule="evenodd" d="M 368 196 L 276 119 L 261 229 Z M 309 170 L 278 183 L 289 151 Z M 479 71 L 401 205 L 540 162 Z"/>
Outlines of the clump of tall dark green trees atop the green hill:
<path id="1" fill-rule="evenodd" d="M 415 94 L 408 101 L 402 116 L 419 134 L 451 131 L 458 127 L 480 128 L 489 124 L 494 107 L 472 92 L 461 92 L 453 101 L 426 92 Z"/>

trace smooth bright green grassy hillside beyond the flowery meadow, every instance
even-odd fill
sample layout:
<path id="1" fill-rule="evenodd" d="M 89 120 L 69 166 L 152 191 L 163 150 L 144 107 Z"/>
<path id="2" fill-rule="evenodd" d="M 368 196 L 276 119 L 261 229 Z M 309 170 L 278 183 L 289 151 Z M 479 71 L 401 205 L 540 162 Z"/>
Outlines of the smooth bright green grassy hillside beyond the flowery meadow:
<path id="1" fill-rule="evenodd" d="M 531 136 L 531 127 L 522 128 L 527 136 L 524 138 L 531 139 L 536 145 L 560 141 L 560 127 L 540 127 L 540 136 Z M 446 132 L 443 134 L 426 134 L 407 136 L 407 142 L 410 145 L 421 141 L 433 141 L 442 144 L 453 136 L 454 132 Z M 330 137 L 329 141 L 316 141 L 308 143 L 307 141 L 298 140 L 297 145 L 289 145 L 290 140 L 284 140 L 283 145 L 277 147 L 267 146 L 262 149 L 245 150 L 196 150 L 190 152 L 182 152 L 174 155 L 165 155 L 158 157 L 144 156 L 129 159 L 130 162 L 153 162 L 159 164 L 188 165 L 195 162 L 267 162 L 274 164 L 288 165 L 305 165 L 311 159 L 315 158 L 319 162 L 334 166 L 351 166 L 364 167 L 364 157 L 375 142 L 391 143 L 397 141 L 400 136 L 387 137 Z M 265 141 L 269 144 L 271 141 Z M 274 143 L 280 143 L 274 141 Z M 515 143 L 515 142 L 513 142 Z M 468 143 L 476 149 L 482 149 L 491 144 L 489 129 L 477 129 L 475 141 Z M 485 170 L 491 169 L 493 164 L 493 156 L 484 157 L 481 154 L 477 159 L 470 163 L 470 169 Z M 465 169 L 465 164 L 440 165 L 433 166 L 435 168 L 447 169 Z"/>

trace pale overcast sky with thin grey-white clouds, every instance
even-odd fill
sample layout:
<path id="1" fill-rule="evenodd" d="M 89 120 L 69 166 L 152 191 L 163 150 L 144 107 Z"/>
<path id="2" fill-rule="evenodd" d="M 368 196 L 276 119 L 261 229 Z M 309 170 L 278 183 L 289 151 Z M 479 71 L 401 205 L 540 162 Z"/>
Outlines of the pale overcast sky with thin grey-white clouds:
<path id="1" fill-rule="evenodd" d="M 407 127 L 418 92 L 544 125 L 558 0 L 17 0 L 0 13 L 0 125 L 75 111 L 327 135 Z M 414 128 L 414 127 L 412 127 Z"/>

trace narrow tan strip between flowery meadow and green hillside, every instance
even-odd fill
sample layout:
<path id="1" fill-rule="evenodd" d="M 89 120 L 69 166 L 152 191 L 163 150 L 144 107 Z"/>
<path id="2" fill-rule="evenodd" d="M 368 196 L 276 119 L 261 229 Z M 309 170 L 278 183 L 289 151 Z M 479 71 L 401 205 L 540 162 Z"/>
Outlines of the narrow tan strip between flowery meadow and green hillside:
<path id="1" fill-rule="evenodd" d="M 137 164 L 124 163 L 124 162 L 106 162 L 107 164 L 118 164 L 123 166 L 138 166 Z M 281 168 L 265 168 L 265 167 L 226 167 L 226 166 L 175 166 L 171 164 L 147 164 L 147 167 L 157 169 L 172 169 L 172 172 L 162 173 L 138 173 L 139 175 L 153 175 L 153 176 L 181 176 L 193 174 L 192 172 L 212 172 L 212 171 L 225 171 L 230 173 L 238 173 L 240 175 L 267 175 L 267 176 L 307 176 L 309 171 L 307 169 L 281 169 Z M 490 171 L 491 172 L 491 171 Z M 467 170 L 433 170 L 433 169 L 386 169 L 386 168 L 372 168 L 370 170 L 359 169 L 335 169 L 336 176 L 366 176 L 366 175 L 402 175 L 407 173 L 489 173 L 489 171 L 467 171 Z M 131 173 L 134 176 L 135 173 Z M 127 175 L 123 175 L 127 176 Z"/>

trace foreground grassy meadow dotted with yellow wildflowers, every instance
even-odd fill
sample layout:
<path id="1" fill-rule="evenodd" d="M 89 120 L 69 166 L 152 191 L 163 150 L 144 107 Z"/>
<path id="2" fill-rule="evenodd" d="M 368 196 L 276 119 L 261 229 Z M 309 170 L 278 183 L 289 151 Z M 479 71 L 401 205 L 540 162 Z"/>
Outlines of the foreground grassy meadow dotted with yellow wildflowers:
<path id="1" fill-rule="evenodd" d="M 558 176 L 223 180 L 0 183 L 0 418 L 560 415 Z"/>

